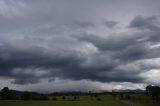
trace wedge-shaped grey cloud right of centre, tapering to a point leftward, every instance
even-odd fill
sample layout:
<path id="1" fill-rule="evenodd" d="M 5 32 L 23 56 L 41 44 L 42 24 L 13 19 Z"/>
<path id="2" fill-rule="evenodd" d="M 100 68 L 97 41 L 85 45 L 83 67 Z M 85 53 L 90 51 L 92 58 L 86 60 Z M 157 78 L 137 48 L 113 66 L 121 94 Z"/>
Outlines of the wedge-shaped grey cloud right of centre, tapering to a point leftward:
<path id="1" fill-rule="evenodd" d="M 119 59 L 121 62 L 130 62 L 140 59 L 149 59 L 159 57 L 159 48 L 150 48 L 151 39 L 145 39 L 146 33 L 133 35 L 120 35 L 107 38 L 98 37 L 97 35 L 83 34 L 78 36 L 80 41 L 92 43 L 100 51 L 110 53 L 112 59 Z M 152 34 L 149 37 L 154 37 Z M 144 39 L 141 41 L 141 39 Z M 157 39 L 158 40 L 158 39 Z"/>

